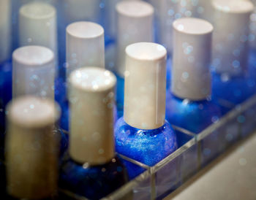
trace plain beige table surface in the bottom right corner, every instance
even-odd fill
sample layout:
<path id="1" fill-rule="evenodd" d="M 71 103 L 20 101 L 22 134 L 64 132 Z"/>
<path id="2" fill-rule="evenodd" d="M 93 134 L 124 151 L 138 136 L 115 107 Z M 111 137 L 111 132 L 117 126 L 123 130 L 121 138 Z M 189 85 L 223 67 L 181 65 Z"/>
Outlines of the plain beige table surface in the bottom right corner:
<path id="1" fill-rule="evenodd" d="M 227 150 L 178 190 L 175 200 L 256 199 L 256 133 Z"/>

